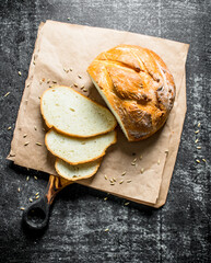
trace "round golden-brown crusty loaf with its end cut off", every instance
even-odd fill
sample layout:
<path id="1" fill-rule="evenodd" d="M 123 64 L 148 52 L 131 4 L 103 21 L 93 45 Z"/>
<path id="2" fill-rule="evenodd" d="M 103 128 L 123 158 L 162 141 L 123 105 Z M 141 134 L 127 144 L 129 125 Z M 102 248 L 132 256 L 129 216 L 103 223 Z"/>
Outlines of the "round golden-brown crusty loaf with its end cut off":
<path id="1" fill-rule="evenodd" d="M 98 55 L 87 72 L 129 141 L 145 139 L 164 125 L 176 91 L 155 53 L 119 45 Z"/>

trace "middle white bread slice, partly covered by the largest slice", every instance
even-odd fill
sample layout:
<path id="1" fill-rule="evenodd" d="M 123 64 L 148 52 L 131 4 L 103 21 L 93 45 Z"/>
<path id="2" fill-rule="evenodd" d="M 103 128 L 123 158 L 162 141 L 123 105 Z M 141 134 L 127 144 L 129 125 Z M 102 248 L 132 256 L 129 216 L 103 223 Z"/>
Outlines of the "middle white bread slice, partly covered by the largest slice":
<path id="1" fill-rule="evenodd" d="M 116 142 L 116 132 L 92 137 L 75 138 L 50 129 L 45 137 L 47 149 L 70 164 L 94 161 L 105 155 L 106 149 Z"/>

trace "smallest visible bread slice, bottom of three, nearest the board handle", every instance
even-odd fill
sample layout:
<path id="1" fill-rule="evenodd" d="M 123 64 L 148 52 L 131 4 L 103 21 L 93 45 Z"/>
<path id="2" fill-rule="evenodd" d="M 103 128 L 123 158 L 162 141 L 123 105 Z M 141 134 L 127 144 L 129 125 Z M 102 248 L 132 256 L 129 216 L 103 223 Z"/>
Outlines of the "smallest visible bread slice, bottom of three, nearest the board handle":
<path id="1" fill-rule="evenodd" d="M 97 172 L 99 164 L 101 159 L 93 162 L 71 165 L 63 160 L 57 158 L 55 162 L 55 169 L 60 176 L 70 181 L 77 181 L 81 179 L 87 179 L 94 175 Z"/>

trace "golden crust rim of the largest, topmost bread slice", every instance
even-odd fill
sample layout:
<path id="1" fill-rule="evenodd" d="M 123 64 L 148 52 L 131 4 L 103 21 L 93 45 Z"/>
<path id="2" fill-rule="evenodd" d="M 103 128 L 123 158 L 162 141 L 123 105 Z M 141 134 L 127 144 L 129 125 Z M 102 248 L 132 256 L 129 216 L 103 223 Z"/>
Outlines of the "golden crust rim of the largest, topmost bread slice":
<path id="1" fill-rule="evenodd" d="M 73 90 L 75 93 L 84 96 L 86 100 L 90 100 L 91 102 L 95 103 L 96 105 L 98 105 L 99 107 L 103 107 L 104 110 L 108 111 L 107 107 L 101 105 L 99 103 L 95 102 L 95 101 L 92 101 L 90 98 L 85 96 L 84 94 L 81 94 L 79 91 L 75 91 L 74 89 L 70 88 L 70 87 L 67 87 L 67 85 L 55 85 L 54 88 L 49 88 L 47 89 L 46 91 L 44 91 L 44 93 L 42 94 L 40 96 L 40 113 L 42 113 L 42 116 L 46 123 L 46 126 L 50 129 L 50 128 L 54 128 L 55 130 L 57 130 L 58 133 L 60 134 L 63 134 L 63 135 L 67 135 L 67 136 L 71 136 L 71 137 L 77 137 L 77 138 L 90 138 L 90 137 L 95 137 L 95 136 L 98 136 L 98 135 L 103 135 L 103 134 L 107 134 L 109 132 L 112 132 L 113 129 L 115 129 L 115 127 L 117 126 L 117 122 L 114 123 L 114 126 L 110 127 L 110 129 L 107 129 L 105 130 L 104 133 L 101 133 L 101 134 L 93 134 L 93 135 L 90 135 L 90 136 L 82 136 L 82 135 L 78 135 L 78 134 L 70 134 L 70 133 L 66 133 L 66 130 L 61 130 L 59 129 L 58 127 L 54 126 L 52 124 L 48 123 L 48 121 L 46 119 L 45 117 L 45 114 L 44 114 L 44 108 L 43 108 L 43 96 L 44 94 L 49 91 L 49 90 L 52 90 L 55 88 L 67 88 L 67 89 L 71 89 Z M 109 112 L 109 111 L 108 111 Z M 110 113 L 110 112 L 109 112 Z M 112 114 L 112 113 L 110 113 Z"/>

